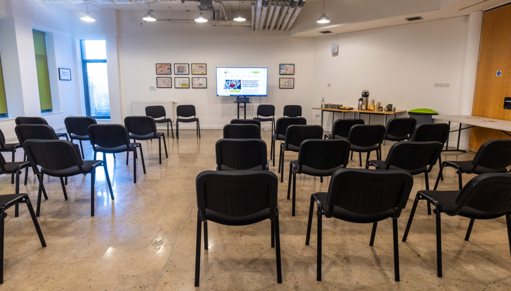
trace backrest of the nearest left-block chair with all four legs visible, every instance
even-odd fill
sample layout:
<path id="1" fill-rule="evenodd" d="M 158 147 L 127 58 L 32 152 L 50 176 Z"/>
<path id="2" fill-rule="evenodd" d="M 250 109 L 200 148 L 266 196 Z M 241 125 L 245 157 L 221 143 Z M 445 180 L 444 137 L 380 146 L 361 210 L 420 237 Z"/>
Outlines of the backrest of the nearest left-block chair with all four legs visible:
<path id="1" fill-rule="evenodd" d="M 71 141 L 30 139 L 23 143 L 23 150 L 32 167 L 41 166 L 55 171 L 78 166 L 83 172 L 82 157 Z"/>

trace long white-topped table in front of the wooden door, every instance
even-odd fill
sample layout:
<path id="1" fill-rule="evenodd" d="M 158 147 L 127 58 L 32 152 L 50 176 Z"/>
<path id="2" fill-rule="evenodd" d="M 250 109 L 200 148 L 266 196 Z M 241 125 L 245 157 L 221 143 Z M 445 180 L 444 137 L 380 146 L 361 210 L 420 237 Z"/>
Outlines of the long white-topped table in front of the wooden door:
<path id="1" fill-rule="evenodd" d="M 458 143 L 456 145 L 456 150 L 448 150 L 447 149 L 447 146 L 449 145 L 449 137 L 447 137 L 446 150 L 444 152 L 456 151 L 456 152 L 465 153 L 466 151 L 459 149 L 459 137 L 461 135 L 461 131 L 464 129 L 469 129 L 469 128 L 473 128 L 476 126 L 498 129 L 498 130 L 502 131 L 503 133 L 507 134 L 508 136 L 511 136 L 511 134 L 508 134 L 507 132 L 505 132 L 505 131 L 511 131 L 511 121 L 509 121 L 509 120 L 472 116 L 472 115 L 433 115 L 432 117 L 433 117 L 433 119 L 446 120 L 449 123 L 449 126 L 451 126 L 451 122 L 459 123 L 459 129 L 450 131 L 450 133 L 456 132 L 456 131 L 458 132 Z M 465 127 L 465 128 L 461 128 L 462 124 L 466 124 L 469 126 Z"/>

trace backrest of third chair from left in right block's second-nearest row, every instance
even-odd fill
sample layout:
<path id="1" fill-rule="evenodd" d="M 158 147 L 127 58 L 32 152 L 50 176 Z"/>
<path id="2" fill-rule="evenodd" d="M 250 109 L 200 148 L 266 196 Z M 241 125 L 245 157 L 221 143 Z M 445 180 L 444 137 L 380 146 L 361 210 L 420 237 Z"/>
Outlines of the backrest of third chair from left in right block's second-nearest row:
<path id="1" fill-rule="evenodd" d="M 394 143 L 385 160 L 385 169 L 396 166 L 406 170 L 421 169 L 429 165 L 427 172 L 438 160 L 442 143 L 438 141 L 401 141 Z"/>

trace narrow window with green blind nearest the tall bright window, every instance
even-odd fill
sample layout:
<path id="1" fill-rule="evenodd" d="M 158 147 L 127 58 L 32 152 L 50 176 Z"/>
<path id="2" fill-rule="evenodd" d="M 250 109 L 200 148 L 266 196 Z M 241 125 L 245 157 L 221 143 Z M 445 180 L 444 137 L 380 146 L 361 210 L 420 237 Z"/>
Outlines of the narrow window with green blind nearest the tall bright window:
<path id="1" fill-rule="evenodd" d="M 52 112 L 52 92 L 50 90 L 50 74 L 48 73 L 46 34 L 37 30 L 33 30 L 32 34 L 34 36 L 35 65 L 41 113 Z"/>

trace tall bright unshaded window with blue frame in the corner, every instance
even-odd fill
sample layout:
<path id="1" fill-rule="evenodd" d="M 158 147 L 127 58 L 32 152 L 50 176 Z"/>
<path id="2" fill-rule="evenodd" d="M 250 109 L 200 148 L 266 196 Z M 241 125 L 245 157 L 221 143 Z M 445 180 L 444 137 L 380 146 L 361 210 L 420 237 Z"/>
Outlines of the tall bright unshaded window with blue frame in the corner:
<path id="1" fill-rule="evenodd" d="M 105 40 L 84 39 L 80 46 L 87 116 L 110 118 Z"/>

